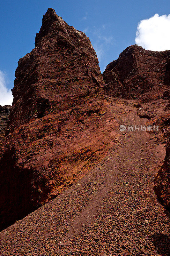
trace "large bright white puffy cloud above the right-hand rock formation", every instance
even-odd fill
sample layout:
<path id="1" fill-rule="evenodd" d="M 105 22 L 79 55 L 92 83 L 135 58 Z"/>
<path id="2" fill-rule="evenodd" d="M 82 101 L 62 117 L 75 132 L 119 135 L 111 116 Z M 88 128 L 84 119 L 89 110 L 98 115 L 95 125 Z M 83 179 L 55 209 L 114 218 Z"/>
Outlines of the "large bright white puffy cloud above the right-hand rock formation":
<path id="1" fill-rule="evenodd" d="M 136 44 L 145 50 L 170 50 L 170 14 L 153 15 L 151 18 L 141 20 L 137 26 Z"/>

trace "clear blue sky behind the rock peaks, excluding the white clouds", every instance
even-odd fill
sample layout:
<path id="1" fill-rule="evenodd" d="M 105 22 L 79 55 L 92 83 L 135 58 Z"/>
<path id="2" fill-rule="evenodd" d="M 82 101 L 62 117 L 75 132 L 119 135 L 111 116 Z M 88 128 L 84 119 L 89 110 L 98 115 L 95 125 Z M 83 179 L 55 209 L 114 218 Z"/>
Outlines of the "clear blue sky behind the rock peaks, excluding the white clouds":
<path id="1" fill-rule="evenodd" d="M 18 60 L 34 48 L 35 35 L 49 7 L 90 38 L 101 72 L 126 47 L 135 44 L 140 20 L 170 12 L 167 0 L 5 0 L 0 7 L 0 71 L 8 88 L 13 87 Z"/>

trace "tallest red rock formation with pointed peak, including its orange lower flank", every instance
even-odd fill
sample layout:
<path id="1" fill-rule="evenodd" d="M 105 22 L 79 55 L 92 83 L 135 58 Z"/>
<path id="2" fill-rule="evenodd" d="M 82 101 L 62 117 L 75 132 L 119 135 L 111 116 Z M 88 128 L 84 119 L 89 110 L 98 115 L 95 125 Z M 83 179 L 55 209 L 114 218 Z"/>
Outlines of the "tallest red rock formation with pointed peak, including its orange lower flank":
<path id="1" fill-rule="evenodd" d="M 43 16 L 15 75 L 0 158 L 1 229 L 71 186 L 110 143 L 96 53 L 55 10 Z"/>

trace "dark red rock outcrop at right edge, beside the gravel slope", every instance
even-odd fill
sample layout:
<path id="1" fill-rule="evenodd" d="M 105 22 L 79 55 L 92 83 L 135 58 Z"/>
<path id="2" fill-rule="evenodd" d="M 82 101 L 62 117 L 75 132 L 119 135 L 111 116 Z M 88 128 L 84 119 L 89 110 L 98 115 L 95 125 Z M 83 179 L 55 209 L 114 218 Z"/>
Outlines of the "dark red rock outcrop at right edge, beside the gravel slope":
<path id="1" fill-rule="evenodd" d="M 154 191 L 161 203 L 170 211 L 170 132 L 166 145 L 166 156 L 154 180 Z"/>

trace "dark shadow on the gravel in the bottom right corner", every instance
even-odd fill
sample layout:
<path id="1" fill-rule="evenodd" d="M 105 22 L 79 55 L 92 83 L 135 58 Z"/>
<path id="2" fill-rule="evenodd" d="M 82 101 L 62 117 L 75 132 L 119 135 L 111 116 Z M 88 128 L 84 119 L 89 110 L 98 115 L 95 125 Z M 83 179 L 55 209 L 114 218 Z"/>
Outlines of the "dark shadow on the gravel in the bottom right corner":
<path id="1" fill-rule="evenodd" d="M 170 256 L 170 237 L 160 233 L 156 233 L 151 237 L 157 252 L 162 256 Z"/>

